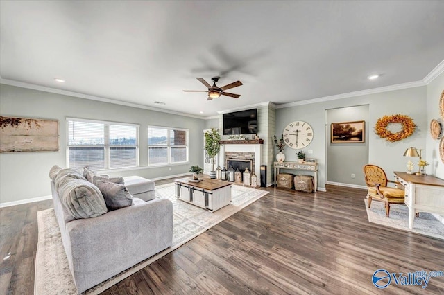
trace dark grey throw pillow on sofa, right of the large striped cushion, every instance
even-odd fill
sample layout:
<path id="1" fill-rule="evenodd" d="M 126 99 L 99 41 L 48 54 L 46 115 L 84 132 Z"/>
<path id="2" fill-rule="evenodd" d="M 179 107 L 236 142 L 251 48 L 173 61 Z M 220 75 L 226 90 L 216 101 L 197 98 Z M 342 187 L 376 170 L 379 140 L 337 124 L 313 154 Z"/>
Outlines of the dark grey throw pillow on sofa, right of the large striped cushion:
<path id="1" fill-rule="evenodd" d="M 123 184 L 97 180 L 96 185 L 101 191 L 109 211 L 133 205 L 133 196 Z"/>

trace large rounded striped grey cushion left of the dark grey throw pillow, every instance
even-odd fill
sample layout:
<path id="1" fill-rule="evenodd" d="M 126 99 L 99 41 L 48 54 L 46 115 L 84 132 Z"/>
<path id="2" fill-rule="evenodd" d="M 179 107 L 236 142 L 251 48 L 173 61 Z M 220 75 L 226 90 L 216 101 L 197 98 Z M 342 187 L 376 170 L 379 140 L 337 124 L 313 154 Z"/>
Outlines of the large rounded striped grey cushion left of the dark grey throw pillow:
<path id="1" fill-rule="evenodd" d="M 90 218 L 108 212 L 103 195 L 97 186 L 91 184 L 78 172 L 58 173 L 55 184 L 62 204 L 74 218 Z M 82 177 L 83 179 L 81 179 Z"/>

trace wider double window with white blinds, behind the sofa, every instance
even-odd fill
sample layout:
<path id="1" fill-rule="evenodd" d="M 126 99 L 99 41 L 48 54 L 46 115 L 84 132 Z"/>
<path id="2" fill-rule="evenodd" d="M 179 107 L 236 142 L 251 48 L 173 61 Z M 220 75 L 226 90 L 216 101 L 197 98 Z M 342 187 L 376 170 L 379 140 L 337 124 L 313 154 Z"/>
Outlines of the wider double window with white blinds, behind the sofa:
<path id="1" fill-rule="evenodd" d="M 67 118 L 69 168 L 138 166 L 138 125 Z"/>

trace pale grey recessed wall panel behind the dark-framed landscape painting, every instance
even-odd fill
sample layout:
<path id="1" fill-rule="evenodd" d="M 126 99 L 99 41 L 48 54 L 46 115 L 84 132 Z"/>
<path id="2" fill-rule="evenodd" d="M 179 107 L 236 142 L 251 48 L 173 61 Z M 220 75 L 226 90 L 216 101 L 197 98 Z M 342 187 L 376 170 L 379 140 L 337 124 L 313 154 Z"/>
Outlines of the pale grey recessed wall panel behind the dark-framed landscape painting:
<path id="1" fill-rule="evenodd" d="M 327 109 L 327 181 L 365 186 L 362 166 L 368 163 L 368 105 Z M 332 123 L 364 120 L 364 143 L 331 143 Z M 355 174 L 355 178 L 351 175 Z"/>

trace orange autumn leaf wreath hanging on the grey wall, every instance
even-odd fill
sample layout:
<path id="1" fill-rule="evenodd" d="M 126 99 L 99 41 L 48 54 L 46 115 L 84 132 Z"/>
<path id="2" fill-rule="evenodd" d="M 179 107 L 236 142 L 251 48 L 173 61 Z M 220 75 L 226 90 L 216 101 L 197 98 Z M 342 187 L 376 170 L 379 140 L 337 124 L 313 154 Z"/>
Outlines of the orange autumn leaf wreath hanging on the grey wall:
<path id="1" fill-rule="evenodd" d="M 402 130 L 400 132 L 390 132 L 387 129 L 388 124 L 390 123 L 399 123 L 402 125 Z M 383 116 L 382 118 L 377 119 L 375 125 L 375 133 L 379 135 L 381 138 L 386 138 L 386 141 L 395 142 L 401 141 L 404 138 L 407 138 L 415 132 L 416 124 L 413 123 L 412 118 L 406 115 L 392 115 L 392 116 Z"/>

